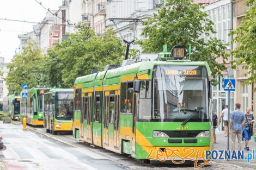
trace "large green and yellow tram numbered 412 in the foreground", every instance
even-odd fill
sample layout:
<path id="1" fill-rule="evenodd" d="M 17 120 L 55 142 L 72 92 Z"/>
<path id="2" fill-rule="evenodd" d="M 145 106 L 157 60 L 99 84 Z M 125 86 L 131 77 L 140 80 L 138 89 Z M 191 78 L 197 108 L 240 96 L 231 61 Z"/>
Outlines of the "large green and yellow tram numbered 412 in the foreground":
<path id="1" fill-rule="evenodd" d="M 192 148 L 190 158 L 212 150 L 210 67 L 170 56 L 77 78 L 74 137 L 141 160 L 166 148 Z"/>

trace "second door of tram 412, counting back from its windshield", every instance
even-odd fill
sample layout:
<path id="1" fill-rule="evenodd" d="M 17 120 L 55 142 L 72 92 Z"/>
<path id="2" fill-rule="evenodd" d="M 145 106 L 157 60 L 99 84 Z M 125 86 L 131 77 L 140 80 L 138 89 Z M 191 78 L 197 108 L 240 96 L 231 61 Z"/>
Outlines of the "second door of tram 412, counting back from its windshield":
<path id="1" fill-rule="evenodd" d="M 115 91 L 114 149 L 119 150 L 120 90 Z"/>

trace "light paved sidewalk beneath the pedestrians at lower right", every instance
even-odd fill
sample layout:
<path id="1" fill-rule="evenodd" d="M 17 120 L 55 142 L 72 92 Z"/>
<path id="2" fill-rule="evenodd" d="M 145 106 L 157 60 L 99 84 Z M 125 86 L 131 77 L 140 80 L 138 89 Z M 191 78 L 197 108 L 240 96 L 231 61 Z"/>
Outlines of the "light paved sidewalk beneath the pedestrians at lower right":
<path id="1" fill-rule="evenodd" d="M 227 150 L 228 148 L 228 137 L 225 137 L 224 131 L 216 131 L 216 143 L 214 143 L 215 150 Z M 236 149 L 238 147 L 237 138 L 236 138 Z M 242 149 L 245 148 L 245 142 L 243 141 Z M 252 153 L 254 149 L 254 153 L 256 156 L 256 142 L 254 142 L 253 138 L 249 141 L 249 151 L 245 151 L 244 155 L 247 156 L 247 153 Z M 231 137 L 229 138 L 229 149 L 231 149 Z M 251 160 L 250 163 L 247 163 L 247 160 L 215 160 L 214 162 L 217 163 L 231 163 L 233 165 L 245 167 L 245 168 L 255 168 L 256 167 L 256 160 Z"/>

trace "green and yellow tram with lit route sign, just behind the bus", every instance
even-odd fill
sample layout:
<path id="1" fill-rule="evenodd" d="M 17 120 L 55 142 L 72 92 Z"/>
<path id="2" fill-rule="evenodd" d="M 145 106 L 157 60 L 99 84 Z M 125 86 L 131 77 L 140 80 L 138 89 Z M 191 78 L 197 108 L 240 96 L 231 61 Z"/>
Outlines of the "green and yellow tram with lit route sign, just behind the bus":
<path id="1" fill-rule="evenodd" d="M 43 127 L 44 94 L 48 91 L 50 87 L 33 87 L 27 90 L 28 97 L 21 99 L 21 121 L 26 117 L 27 124 Z"/>

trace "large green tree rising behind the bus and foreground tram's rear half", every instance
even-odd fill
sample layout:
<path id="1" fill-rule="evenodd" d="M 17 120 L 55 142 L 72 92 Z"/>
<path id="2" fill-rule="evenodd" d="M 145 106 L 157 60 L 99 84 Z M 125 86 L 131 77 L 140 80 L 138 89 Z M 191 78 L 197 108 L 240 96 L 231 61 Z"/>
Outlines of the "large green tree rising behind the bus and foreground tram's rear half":
<path id="1" fill-rule="evenodd" d="M 48 51 L 48 82 L 71 87 L 77 77 L 90 74 L 93 69 L 102 71 L 108 64 L 120 64 L 124 54 L 125 46 L 113 29 L 98 37 L 80 23 L 76 33 Z"/>

